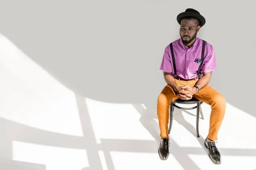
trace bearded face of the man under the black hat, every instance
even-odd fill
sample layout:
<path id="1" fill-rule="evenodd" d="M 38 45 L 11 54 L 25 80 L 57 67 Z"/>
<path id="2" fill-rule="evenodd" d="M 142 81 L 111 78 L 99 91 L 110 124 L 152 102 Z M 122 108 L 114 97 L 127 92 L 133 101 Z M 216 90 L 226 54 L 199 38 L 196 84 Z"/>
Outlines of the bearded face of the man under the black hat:
<path id="1" fill-rule="evenodd" d="M 180 38 L 184 44 L 189 44 L 195 39 L 200 26 L 195 18 L 182 19 L 180 22 Z"/>

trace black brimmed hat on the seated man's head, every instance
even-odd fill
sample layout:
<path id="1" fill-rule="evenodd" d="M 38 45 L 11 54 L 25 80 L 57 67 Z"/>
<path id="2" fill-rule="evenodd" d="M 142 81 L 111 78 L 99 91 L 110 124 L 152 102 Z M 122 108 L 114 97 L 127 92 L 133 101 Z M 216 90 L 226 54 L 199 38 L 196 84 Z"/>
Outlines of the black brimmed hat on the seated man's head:
<path id="1" fill-rule="evenodd" d="M 205 18 L 195 9 L 192 8 L 187 8 L 185 12 L 182 12 L 180 14 L 178 14 L 177 16 L 177 21 L 180 24 L 180 21 L 183 17 L 194 17 L 197 18 L 200 22 L 200 26 L 204 26 L 205 24 Z"/>

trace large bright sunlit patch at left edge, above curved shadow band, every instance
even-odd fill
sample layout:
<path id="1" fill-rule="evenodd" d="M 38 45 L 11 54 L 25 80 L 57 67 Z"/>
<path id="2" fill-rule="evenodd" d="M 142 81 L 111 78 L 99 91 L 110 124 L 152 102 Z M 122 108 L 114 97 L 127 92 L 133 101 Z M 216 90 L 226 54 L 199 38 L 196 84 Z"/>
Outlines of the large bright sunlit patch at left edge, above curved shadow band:
<path id="1" fill-rule="evenodd" d="M 0 117 L 41 130 L 83 136 L 73 91 L 0 35 Z"/>

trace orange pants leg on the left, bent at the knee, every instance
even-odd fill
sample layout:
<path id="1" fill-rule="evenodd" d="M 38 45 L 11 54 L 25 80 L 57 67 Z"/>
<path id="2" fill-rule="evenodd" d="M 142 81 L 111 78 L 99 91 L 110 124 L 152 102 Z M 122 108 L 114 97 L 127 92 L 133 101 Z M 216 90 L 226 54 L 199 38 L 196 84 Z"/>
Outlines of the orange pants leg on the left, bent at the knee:
<path id="1" fill-rule="evenodd" d="M 177 85 L 184 86 L 186 82 L 176 80 Z M 169 124 L 169 107 L 171 103 L 177 100 L 179 96 L 174 92 L 171 86 L 166 85 L 161 91 L 157 99 L 157 116 L 160 127 L 160 136 L 162 138 L 168 137 L 168 124 Z"/>

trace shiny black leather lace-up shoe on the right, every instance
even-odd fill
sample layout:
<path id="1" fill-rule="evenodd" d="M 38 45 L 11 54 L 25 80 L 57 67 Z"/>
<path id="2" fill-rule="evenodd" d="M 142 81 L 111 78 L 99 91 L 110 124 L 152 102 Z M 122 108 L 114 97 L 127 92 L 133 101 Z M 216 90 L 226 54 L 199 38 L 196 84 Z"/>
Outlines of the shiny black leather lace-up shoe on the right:
<path id="1" fill-rule="evenodd" d="M 212 161 L 215 164 L 220 164 L 221 163 L 221 154 L 218 151 L 218 148 L 215 146 L 214 141 L 207 142 L 207 138 L 204 141 L 205 147 L 209 150 L 209 157 L 212 159 Z"/>

